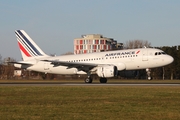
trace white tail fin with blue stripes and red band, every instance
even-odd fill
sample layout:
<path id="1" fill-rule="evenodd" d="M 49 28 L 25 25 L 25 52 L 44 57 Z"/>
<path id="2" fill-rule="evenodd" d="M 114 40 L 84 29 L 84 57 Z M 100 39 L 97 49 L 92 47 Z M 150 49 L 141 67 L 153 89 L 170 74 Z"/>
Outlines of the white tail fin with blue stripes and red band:
<path id="1" fill-rule="evenodd" d="M 38 57 L 48 56 L 28 36 L 28 34 L 24 30 L 16 30 L 15 34 L 24 61 Z"/>

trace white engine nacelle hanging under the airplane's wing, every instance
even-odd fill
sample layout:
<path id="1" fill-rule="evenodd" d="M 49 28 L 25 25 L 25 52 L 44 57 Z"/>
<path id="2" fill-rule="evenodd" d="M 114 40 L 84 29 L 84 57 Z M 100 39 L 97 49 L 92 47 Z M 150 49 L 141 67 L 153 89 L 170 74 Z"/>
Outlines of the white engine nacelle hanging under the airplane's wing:
<path id="1" fill-rule="evenodd" d="M 97 67 L 97 75 L 99 77 L 108 78 L 108 77 L 115 77 L 118 75 L 118 70 L 116 66 L 113 65 L 106 65 L 106 66 L 99 66 Z"/>

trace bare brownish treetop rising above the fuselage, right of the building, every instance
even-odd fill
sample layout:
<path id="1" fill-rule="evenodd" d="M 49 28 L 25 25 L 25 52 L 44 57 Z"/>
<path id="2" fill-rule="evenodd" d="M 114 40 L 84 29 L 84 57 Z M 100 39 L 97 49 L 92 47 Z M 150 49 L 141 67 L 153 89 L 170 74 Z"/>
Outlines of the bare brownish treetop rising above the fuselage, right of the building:
<path id="1" fill-rule="evenodd" d="M 133 48 L 142 48 L 142 47 L 151 47 L 151 43 L 145 40 L 129 40 L 124 44 L 124 48 L 133 49 Z"/>

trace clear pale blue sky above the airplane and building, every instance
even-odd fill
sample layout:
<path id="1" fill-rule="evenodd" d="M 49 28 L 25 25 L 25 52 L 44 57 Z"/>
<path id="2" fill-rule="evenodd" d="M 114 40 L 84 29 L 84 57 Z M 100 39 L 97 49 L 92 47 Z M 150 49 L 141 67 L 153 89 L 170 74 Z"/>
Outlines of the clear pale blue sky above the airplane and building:
<path id="1" fill-rule="evenodd" d="M 0 0 L 0 55 L 21 60 L 18 29 L 56 55 L 73 52 L 82 34 L 180 45 L 179 6 L 180 0 Z"/>

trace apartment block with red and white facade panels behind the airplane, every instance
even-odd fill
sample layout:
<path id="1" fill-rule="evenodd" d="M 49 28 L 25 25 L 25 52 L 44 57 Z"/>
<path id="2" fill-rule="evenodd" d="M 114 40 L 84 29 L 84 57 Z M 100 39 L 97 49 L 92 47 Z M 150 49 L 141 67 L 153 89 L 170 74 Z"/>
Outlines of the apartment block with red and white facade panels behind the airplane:
<path id="1" fill-rule="evenodd" d="M 74 39 L 74 54 L 109 51 L 122 48 L 122 43 L 117 43 L 116 40 L 103 37 L 101 34 L 82 35 L 81 38 Z"/>

